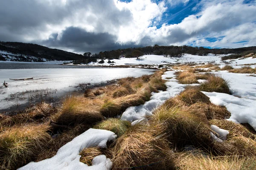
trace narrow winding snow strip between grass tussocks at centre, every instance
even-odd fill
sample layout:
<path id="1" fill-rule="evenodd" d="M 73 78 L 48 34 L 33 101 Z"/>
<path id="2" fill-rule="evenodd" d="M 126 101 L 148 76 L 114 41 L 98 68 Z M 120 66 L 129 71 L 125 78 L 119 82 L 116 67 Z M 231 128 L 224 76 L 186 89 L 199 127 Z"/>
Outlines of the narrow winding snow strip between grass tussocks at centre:
<path id="1" fill-rule="evenodd" d="M 177 79 L 175 79 L 176 75 L 175 71 L 166 71 L 165 74 L 162 75 L 162 78 L 167 80 L 166 91 L 160 91 L 159 93 L 151 93 L 150 100 L 145 102 L 144 105 L 129 107 L 122 114 L 121 119 L 132 122 L 132 125 L 140 122 L 145 118 L 145 116 L 151 116 L 152 112 L 155 108 L 162 105 L 167 99 L 179 94 L 181 91 L 185 89 L 186 85 L 179 84 Z M 171 79 L 166 79 L 166 78 Z"/>

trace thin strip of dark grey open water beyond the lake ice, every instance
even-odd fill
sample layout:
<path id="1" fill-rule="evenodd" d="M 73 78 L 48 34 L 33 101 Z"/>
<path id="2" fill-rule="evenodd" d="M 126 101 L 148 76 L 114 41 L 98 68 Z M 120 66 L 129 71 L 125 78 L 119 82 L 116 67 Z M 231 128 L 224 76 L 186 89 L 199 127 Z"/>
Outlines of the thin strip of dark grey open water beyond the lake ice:
<path id="1" fill-rule="evenodd" d="M 0 69 L 36 69 L 36 68 L 99 68 L 93 66 L 83 65 L 61 65 L 53 63 L 13 63 L 13 62 L 0 62 Z"/>

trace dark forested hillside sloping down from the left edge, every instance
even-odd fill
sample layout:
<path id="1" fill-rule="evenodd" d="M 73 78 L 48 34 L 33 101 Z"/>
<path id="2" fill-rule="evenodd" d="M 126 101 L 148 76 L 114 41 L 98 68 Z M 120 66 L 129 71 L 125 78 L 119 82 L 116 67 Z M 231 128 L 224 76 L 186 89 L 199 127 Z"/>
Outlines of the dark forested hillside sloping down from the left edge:
<path id="1" fill-rule="evenodd" d="M 47 60 L 76 60 L 83 58 L 83 55 L 81 54 L 76 54 L 63 50 L 48 48 L 42 45 L 23 42 L 0 41 L 0 51 L 7 51 L 12 54 L 17 54 L 20 57 L 30 56 L 44 58 Z"/>

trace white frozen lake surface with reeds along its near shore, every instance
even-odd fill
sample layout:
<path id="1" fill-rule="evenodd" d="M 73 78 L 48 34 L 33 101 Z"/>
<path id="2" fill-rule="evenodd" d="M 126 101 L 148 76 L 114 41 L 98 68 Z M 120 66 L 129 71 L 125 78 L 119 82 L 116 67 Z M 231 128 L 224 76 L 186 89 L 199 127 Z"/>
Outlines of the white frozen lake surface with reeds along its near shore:
<path id="1" fill-rule="evenodd" d="M 61 96 L 76 90 L 79 83 L 101 83 L 123 77 L 140 77 L 153 74 L 153 70 L 140 68 L 49 68 L 49 69 L 1 69 L 0 83 L 8 83 L 0 88 L 0 111 L 24 104 L 29 98 L 38 96 Z M 30 80 L 10 80 L 31 78 Z"/>

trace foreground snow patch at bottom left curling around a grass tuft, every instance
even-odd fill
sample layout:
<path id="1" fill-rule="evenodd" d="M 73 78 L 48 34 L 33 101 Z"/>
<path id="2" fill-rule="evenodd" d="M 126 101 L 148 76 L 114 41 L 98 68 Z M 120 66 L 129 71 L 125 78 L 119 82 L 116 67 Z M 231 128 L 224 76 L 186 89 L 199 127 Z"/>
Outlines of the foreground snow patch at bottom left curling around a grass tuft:
<path id="1" fill-rule="evenodd" d="M 90 128 L 61 147 L 52 158 L 30 162 L 18 170 L 110 170 L 112 162 L 105 155 L 96 156 L 92 166 L 88 166 L 79 161 L 79 153 L 86 147 L 107 147 L 107 141 L 115 139 L 111 131 Z"/>

